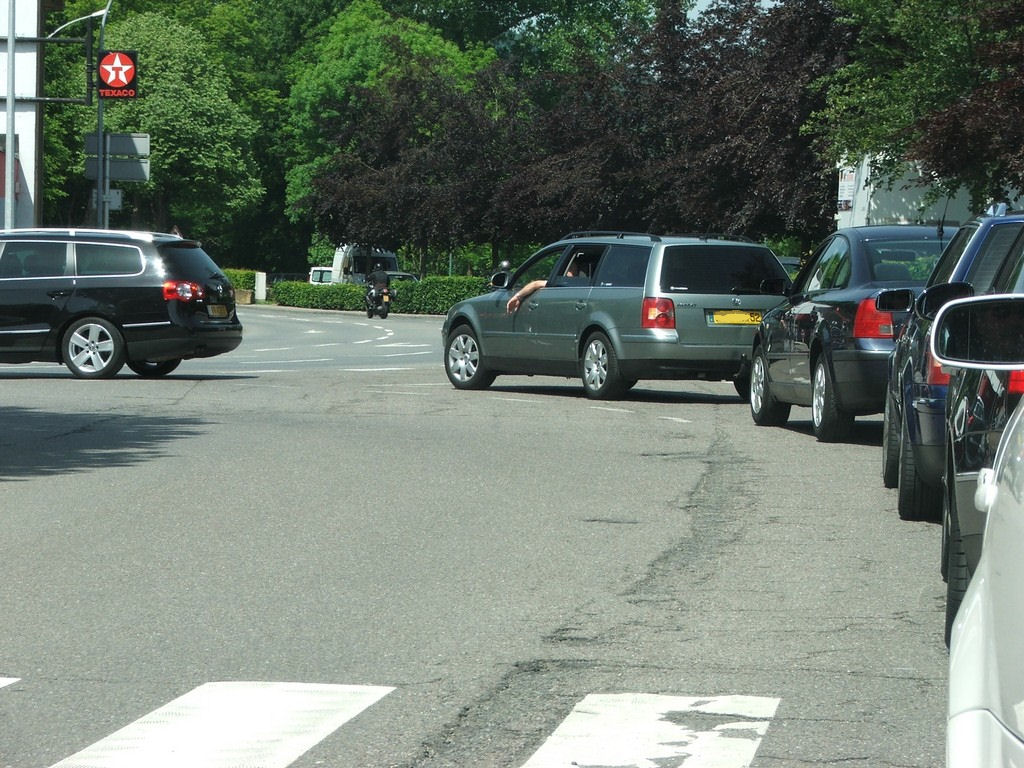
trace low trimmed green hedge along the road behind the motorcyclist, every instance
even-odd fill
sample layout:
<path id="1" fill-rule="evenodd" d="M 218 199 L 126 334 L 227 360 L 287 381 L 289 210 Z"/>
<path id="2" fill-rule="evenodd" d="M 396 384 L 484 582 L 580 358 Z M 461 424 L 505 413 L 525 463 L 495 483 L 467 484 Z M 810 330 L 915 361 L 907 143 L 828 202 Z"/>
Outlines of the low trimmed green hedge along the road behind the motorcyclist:
<path id="1" fill-rule="evenodd" d="M 231 282 L 234 282 L 233 278 Z M 239 287 L 238 284 L 236 287 Z M 457 301 L 479 296 L 489 291 L 490 287 L 482 278 L 425 278 L 419 283 L 396 281 L 391 284 L 391 290 L 392 311 L 444 314 Z M 362 311 L 366 308 L 362 301 L 365 293 L 362 286 L 349 283 L 314 286 L 286 281 L 274 283 L 267 298 L 282 306 Z"/>

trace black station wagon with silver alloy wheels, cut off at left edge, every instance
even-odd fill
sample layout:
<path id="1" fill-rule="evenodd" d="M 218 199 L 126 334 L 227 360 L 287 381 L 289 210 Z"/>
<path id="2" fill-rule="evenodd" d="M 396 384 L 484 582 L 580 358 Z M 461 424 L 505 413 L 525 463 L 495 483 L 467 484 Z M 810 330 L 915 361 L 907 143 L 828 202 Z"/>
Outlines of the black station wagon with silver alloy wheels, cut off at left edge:
<path id="1" fill-rule="evenodd" d="M 104 229 L 0 231 L 0 362 L 169 374 L 242 343 L 234 289 L 200 244 Z"/>

